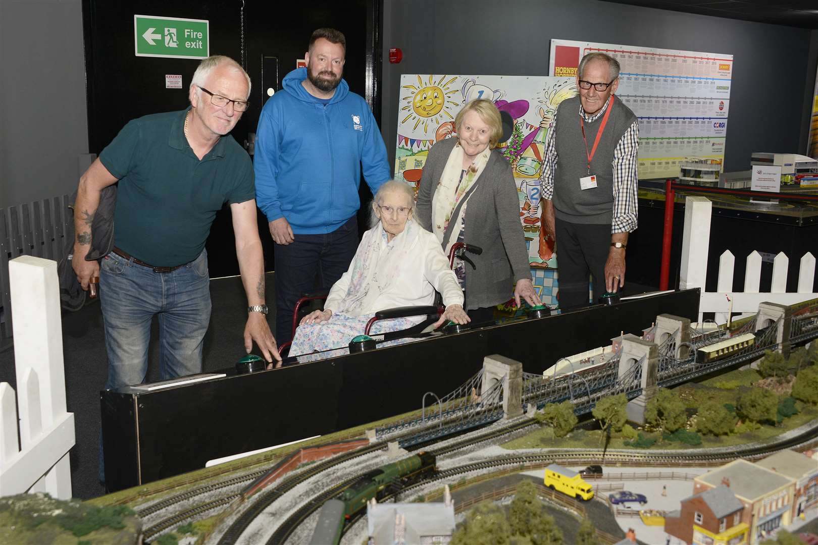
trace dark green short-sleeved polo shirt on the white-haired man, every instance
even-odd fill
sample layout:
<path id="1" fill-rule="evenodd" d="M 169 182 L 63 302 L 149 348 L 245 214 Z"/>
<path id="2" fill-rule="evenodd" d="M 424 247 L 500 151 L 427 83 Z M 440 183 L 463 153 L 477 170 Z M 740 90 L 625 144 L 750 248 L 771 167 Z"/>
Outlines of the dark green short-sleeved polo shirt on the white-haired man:
<path id="1" fill-rule="evenodd" d="M 133 119 L 100 154 L 119 179 L 115 244 L 154 266 L 193 261 L 224 203 L 255 199 L 247 152 L 228 135 L 199 160 L 185 138 L 186 114 Z"/>

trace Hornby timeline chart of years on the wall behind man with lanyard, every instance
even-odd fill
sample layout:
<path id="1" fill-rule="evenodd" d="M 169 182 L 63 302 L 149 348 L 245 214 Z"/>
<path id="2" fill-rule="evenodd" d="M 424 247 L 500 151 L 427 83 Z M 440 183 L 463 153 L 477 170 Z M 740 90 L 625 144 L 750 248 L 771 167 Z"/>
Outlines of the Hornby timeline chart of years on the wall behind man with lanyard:
<path id="1" fill-rule="evenodd" d="M 551 40 L 550 74 L 576 78 L 594 51 L 621 66 L 616 95 L 639 118 L 640 180 L 679 176 L 685 158 L 724 164 L 732 55 Z"/>

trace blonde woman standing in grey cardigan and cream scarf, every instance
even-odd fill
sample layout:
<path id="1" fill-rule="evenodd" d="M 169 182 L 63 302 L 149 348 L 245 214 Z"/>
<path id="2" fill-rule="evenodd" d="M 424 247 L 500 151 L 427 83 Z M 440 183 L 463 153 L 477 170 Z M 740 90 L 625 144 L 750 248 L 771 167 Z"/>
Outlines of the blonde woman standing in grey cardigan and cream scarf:
<path id="1" fill-rule="evenodd" d="M 483 248 L 476 268 L 456 263 L 465 289 L 465 308 L 474 323 L 492 319 L 493 307 L 514 290 L 529 305 L 540 305 L 531 282 L 528 251 L 519 223 L 519 199 L 511 167 L 492 150 L 503 129 L 492 101 L 470 101 L 455 118 L 456 138 L 429 150 L 417 194 L 420 225 L 438 237 L 444 252 L 465 242 Z"/>

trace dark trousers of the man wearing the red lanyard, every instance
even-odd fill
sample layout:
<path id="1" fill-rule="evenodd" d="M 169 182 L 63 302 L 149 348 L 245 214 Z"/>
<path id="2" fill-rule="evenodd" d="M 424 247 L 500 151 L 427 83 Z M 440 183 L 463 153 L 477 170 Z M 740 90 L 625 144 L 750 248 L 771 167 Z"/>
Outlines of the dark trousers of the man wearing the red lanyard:
<path id="1" fill-rule="evenodd" d="M 599 301 L 605 293 L 610 224 L 569 223 L 557 218 L 556 231 L 560 309 L 588 306 L 588 275 L 594 283 L 593 301 Z"/>

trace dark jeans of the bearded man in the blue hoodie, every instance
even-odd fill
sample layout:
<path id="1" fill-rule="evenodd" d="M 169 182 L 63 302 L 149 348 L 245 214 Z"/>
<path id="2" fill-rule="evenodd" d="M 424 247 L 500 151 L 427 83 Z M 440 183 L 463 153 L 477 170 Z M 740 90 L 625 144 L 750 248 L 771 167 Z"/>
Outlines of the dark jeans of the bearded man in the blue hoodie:
<path id="1" fill-rule="evenodd" d="M 301 294 L 332 287 L 357 250 L 357 217 L 326 235 L 294 235 L 294 242 L 276 244 L 276 342 L 292 340 L 293 309 Z M 317 282 L 316 282 L 317 277 Z"/>

